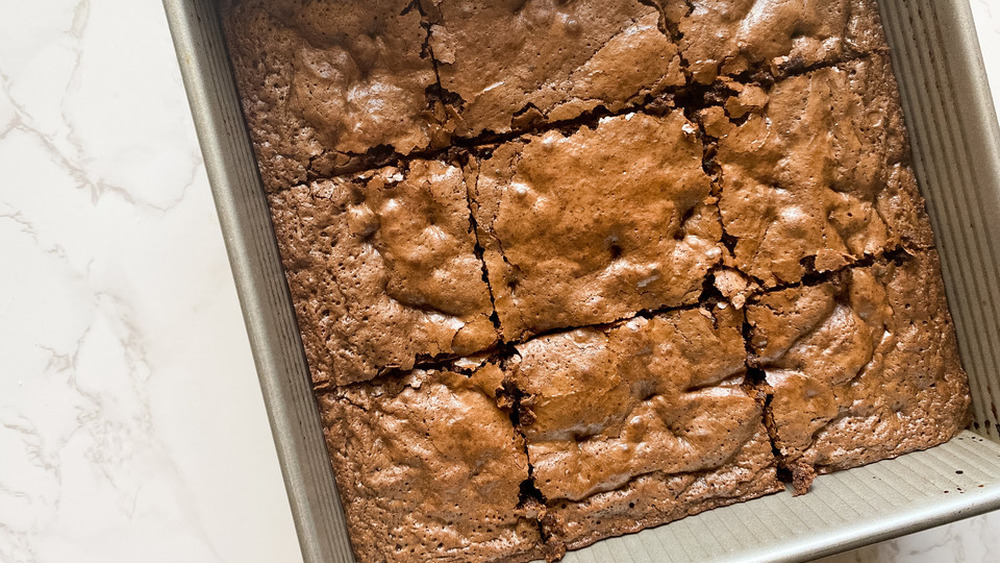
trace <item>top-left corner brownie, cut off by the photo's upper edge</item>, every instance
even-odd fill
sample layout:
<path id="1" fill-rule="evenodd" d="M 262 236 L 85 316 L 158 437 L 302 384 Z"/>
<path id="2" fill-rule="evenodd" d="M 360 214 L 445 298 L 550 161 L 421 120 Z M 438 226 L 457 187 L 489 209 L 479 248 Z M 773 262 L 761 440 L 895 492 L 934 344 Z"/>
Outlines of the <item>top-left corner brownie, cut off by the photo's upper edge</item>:
<path id="1" fill-rule="evenodd" d="M 269 190 L 409 154 L 439 132 L 411 0 L 225 0 L 223 27 Z"/>

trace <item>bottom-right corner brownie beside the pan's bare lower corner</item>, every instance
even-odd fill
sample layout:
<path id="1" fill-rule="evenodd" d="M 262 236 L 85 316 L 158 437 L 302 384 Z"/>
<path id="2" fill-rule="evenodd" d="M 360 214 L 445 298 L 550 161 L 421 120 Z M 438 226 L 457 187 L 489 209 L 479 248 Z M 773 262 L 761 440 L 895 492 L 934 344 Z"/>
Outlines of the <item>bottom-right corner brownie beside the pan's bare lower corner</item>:
<path id="1" fill-rule="evenodd" d="M 771 431 L 799 493 L 817 472 L 929 448 L 969 423 L 936 251 L 767 294 L 747 317 L 773 394 Z"/>

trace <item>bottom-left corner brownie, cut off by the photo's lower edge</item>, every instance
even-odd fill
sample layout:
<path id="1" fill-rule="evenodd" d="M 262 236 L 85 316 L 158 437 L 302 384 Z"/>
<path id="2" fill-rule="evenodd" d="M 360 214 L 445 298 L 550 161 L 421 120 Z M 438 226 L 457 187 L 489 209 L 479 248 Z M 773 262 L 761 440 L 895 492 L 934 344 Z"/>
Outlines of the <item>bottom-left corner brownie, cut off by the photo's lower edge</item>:
<path id="1" fill-rule="evenodd" d="M 416 370 L 319 397 L 361 561 L 539 559 L 520 508 L 524 442 L 497 406 L 503 372 Z"/>

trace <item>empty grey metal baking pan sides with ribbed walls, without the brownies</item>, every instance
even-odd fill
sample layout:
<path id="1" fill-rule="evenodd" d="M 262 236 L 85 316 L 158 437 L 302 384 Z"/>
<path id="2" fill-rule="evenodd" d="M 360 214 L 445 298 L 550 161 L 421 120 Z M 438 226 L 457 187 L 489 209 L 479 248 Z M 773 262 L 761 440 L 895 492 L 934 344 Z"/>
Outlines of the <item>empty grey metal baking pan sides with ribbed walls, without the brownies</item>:
<path id="1" fill-rule="evenodd" d="M 342 508 L 213 0 L 164 0 L 302 555 L 350 562 Z M 802 561 L 1000 508 L 1000 132 L 968 0 L 881 0 L 975 422 L 951 442 L 599 542 L 568 562 Z"/>

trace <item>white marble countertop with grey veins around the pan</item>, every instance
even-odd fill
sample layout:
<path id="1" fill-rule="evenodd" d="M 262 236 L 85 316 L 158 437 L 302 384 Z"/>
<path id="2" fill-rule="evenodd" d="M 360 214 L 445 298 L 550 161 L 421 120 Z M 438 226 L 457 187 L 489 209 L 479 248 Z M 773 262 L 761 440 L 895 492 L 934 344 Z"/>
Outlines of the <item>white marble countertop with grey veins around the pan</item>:
<path id="1" fill-rule="evenodd" d="M 0 15 L 0 562 L 301 561 L 160 3 Z M 998 530 L 826 561 L 997 561 Z"/>

